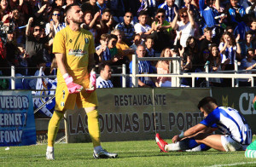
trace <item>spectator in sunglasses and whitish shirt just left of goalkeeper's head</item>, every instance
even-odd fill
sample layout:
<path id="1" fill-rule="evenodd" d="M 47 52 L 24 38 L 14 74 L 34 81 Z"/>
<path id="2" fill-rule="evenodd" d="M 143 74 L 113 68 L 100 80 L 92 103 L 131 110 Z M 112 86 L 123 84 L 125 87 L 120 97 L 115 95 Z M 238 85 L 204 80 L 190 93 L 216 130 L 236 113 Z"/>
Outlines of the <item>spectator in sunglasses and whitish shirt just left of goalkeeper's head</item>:
<path id="1" fill-rule="evenodd" d="M 49 15 L 49 23 L 45 25 L 45 34 L 48 35 L 50 31 L 54 31 L 54 34 L 56 34 L 65 27 L 65 22 L 62 22 L 61 10 L 54 9 L 52 14 Z"/>

